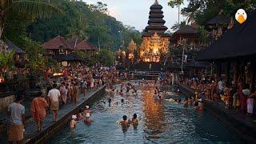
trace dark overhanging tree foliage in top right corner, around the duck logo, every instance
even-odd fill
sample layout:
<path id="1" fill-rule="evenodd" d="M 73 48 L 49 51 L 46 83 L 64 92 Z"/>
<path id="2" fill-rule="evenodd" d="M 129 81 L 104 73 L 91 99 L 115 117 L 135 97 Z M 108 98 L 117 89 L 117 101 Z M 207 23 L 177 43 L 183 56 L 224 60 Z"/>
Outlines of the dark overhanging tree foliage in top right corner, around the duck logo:
<path id="1" fill-rule="evenodd" d="M 182 14 L 193 19 L 198 25 L 204 26 L 210 18 L 223 10 L 224 14 L 234 17 L 238 9 L 247 13 L 256 8 L 255 0 L 189 0 L 188 6 L 182 9 Z"/>

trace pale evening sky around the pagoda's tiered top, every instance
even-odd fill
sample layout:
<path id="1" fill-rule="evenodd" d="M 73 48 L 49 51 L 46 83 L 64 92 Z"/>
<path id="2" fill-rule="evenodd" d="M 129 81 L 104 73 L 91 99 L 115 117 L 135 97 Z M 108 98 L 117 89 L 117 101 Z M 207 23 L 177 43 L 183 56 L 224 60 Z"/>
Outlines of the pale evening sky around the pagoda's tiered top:
<path id="1" fill-rule="evenodd" d="M 150 12 L 150 6 L 154 4 L 154 0 L 83 0 L 87 4 L 95 4 L 97 2 L 107 4 L 110 15 L 122 22 L 124 25 L 134 26 L 136 30 L 142 31 L 147 26 L 147 21 Z M 162 5 L 164 12 L 165 26 L 170 30 L 170 27 L 178 22 L 178 8 L 171 8 L 167 5 L 169 0 L 158 0 Z M 181 7 L 184 7 L 188 2 L 184 2 Z M 186 18 L 182 17 L 181 20 Z M 171 30 L 170 30 L 171 31 Z"/>

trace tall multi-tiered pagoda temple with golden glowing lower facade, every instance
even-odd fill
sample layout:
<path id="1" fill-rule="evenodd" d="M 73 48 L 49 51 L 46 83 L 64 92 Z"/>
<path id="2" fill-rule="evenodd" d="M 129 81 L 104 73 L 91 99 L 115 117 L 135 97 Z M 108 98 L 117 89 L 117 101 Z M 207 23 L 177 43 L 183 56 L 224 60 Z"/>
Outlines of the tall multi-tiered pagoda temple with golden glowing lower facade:
<path id="1" fill-rule="evenodd" d="M 142 35 L 142 45 L 139 56 L 142 62 L 160 62 L 160 56 L 168 52 L 170 35 L 165 34 L 168 29 L 164 24 L 162 6 L 158 0 L 150 6 L 148 26 Z"/>

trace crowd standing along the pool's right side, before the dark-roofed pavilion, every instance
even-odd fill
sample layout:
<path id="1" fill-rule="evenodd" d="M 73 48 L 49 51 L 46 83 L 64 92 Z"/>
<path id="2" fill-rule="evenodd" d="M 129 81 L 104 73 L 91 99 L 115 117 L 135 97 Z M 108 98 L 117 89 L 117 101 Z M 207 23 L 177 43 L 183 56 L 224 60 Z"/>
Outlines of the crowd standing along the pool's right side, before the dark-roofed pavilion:
<path id="1" fill-rule="evenodd" d="M 254 114 L 256 92 L 251 91 L 250 86 L 242 81 L 238 86 L 234 86 L 234 82 L 232 86 L 227 86 L 222 78 L 183 78 L 181 83 L 210 102 L 223 102 L 226 109 Z"/>

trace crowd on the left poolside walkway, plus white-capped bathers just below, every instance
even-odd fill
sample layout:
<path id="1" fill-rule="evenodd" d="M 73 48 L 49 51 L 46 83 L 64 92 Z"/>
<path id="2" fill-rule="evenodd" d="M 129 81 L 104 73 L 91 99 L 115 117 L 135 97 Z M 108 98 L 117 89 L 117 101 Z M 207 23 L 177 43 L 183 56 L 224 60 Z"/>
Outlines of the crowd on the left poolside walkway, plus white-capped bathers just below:
<path id="1" fill-rule="evenodd" d="M 43 120 L 51 110 L 53 115 L 53 122 L 58 120 L 58 110 L 67 103 L 78 104 L 78 97 L 80 94 L 86 96 L 90 90 L 95 90 L 97 87 L 106 83 L 114 84 L 118 82 L 119 72 L 115 67 L 86 66 L 78 65 L 72 66 L 69 69 L 62 71 L 58 78 L 46 71 L 46 90 L 38 93 L 37 97 L 33 99 L 30 105 L 31 117 L 38 125 L 38 131 L 41 131 Z M 23 133 L 26 126 L 25 106 L 22 106 L 24 94 L 17 94 L 16 101 L 10 104 L 8 111 L 10 112 L 10 128 L 9 128 L 9 142 L 22 142 Z M 75 119 L 76 116 L 73 117 Z M 93 122 L 90 119 L 88 110 L 79 114 L 78 119 L 84 119 L 87 124 Z M 75 126 L 75 122 L 70 122 L 70 125 Z"/>

